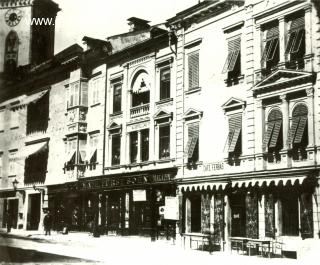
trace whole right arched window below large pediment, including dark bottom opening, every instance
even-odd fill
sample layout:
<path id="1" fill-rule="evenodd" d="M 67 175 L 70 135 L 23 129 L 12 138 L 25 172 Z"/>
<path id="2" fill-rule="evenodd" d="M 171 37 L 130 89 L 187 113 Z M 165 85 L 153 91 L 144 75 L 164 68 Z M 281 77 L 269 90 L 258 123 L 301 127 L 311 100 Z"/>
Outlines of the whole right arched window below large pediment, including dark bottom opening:
<path id="1" fill-rule="evenodd" d="M 304 104 L 298 104 L 292 111 L 288 143 L 294 160 L 307 159 L 308 108 Z"/>

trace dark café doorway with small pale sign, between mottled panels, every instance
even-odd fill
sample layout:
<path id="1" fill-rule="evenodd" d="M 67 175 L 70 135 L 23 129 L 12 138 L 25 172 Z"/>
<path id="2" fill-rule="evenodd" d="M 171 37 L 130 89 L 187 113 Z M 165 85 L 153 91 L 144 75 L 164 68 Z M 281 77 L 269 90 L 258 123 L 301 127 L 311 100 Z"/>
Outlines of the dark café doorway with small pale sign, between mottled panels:
<path id="1" fill-rule="evenodd" d="M 244 195 L 233 195 L 230 198 L 231 206 L 231 236 L 246 235 L 246 211 Z"/>

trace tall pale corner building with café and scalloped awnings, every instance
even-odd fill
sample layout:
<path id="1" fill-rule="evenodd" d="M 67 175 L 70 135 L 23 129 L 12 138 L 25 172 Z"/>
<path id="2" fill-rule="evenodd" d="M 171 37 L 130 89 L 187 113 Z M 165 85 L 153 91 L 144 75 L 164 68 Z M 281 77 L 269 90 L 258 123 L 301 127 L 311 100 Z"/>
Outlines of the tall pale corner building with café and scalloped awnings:
<path id="1" fill-rule="evenodd" d="M 178 36 L 180 231 L 228 246 L 273 238 L 284 251 L 319 238 L 316 6 L 203 1 L 168 26 Z"/>

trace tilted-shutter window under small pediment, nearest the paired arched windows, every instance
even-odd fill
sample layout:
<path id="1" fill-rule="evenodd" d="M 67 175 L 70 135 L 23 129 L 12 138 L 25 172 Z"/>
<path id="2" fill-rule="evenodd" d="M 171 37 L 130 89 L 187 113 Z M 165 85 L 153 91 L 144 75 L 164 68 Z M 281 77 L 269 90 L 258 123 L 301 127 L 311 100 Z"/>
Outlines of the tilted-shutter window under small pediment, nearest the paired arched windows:
<path id="1" fill-rule="evenodd" d="M 228 163 L 232 166 L 240 165 L 240 155 L 242 152 L 242 113 L 229 116 L 228 133 Z"/>

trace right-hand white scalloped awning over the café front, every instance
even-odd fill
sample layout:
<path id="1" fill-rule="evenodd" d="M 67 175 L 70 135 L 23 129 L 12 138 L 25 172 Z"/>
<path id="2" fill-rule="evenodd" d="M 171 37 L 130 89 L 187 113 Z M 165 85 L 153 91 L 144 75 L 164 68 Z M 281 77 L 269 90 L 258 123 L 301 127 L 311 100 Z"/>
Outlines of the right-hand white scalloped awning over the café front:
<path id="1" fill-rule="evenodd" d="M 247 179 L 247 180 L 236 180 L 231 182 L 231 186 L 234 187 L 249 187 L 249 186 L 258 186 L 262 187 L 264 184 L 268 187 L 271 184 L 278 186 L 280 183 L 282 185 L 287 184 L 302 184 L 306 176 L 297 176 L 297 177 L 282 177 L 282 178 L 261 178 L 261 179 Z"/>

